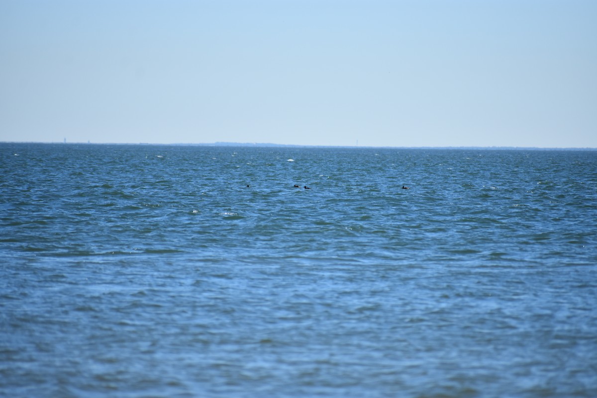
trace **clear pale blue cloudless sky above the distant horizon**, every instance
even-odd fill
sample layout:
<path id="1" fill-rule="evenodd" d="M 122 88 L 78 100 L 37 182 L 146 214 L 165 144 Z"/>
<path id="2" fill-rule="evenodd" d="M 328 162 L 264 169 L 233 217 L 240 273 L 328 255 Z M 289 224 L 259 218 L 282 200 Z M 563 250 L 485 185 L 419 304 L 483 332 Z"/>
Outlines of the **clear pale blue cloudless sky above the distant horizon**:
<path id="1" fill-rule="evenodd" d="M 0 0 L 0 141 L 597 147 L 595 0 Z"/>

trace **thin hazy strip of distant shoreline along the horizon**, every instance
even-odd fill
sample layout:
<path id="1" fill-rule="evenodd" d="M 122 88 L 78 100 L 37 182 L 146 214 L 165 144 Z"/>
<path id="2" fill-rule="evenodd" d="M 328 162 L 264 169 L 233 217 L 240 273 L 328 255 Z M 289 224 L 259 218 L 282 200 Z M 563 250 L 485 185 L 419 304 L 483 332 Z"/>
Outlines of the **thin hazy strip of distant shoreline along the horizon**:
<path id="1" fill-rule="evenodd" d="M 400 146 L 341 146 L 341 145 L 297 145 L 297 144 L 272 144 L 272 143 L 90 143 L 90 142 L 41 142 L 41 141 L 0 141 L 0 144 L 59 144 L 59 145 L 147 145 L 147 146 L 202 146 L 202 147 L 264 147 L 264 148 L 344 148 L 344 149 L 456 149 L 456 150 L 585 150 L 595 151 L 597 148 L 591 147 L 509 147 L 509 146 L 417 146 L 417 147 L 400 147 Z"/>

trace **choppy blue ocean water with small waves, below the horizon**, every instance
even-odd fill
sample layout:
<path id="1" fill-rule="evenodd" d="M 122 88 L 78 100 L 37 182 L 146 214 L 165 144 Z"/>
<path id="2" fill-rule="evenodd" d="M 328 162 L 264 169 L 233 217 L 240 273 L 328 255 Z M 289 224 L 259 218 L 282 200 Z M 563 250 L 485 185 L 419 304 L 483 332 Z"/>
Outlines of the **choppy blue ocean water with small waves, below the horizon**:
<path id="1" fill-rule="evenodd" d="M 3 143 L 0 187 L 0 396 L 597 396 L 597 152 Z"/>

